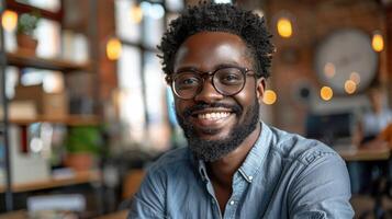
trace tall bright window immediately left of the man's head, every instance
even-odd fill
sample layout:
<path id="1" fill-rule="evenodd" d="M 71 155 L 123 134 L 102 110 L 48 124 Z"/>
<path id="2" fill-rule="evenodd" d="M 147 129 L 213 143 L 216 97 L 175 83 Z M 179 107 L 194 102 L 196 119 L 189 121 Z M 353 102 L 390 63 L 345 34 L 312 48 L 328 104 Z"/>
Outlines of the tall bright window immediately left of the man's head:
<path id="1" fill-rule="evenodd" d="M 116 35 L 123 45 L 117 78 L 120 115 L 128 128 L 124 134 L 132 136 L 128 140 L 156 150 L 169 145 L 167 92 L 171 92 L 156 46 L 168 19 L 176 18 L 183 4 L 182 0 L 115 1 Z"/>

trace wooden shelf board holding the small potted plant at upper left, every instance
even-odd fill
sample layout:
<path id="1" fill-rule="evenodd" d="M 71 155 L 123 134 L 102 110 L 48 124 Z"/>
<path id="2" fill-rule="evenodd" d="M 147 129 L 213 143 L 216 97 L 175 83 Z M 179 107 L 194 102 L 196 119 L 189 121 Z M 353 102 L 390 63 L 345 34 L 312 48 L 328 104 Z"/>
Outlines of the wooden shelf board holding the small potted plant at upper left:
<path id="1" fill-rule="evenodd" d="M 90 65 L 87 64 L 75 64 L 61 59 L 49 59 L 32 57 L 23 50 L 15 53 L 7 53 L 8 65 L 16 67 L 31 67 L 38 69 L 48 69 L 57 71 L 90 71 Z"/>

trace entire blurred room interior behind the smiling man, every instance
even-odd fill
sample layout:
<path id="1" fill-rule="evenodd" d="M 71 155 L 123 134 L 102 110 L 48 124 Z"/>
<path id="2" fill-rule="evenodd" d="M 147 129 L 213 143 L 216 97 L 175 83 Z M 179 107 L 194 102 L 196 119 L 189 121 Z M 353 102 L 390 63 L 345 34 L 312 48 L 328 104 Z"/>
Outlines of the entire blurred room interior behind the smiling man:
<path id="1" fill-rule="evenodd" d="M 197 2 L 1 1 L 0 218 L 125 218 L 145 168 L 186 147 L 156 45 Z M 336 149 L 356 217 L 388 218 L 392 1 L 215 2 L 273 34 L 262 120 Z"/>

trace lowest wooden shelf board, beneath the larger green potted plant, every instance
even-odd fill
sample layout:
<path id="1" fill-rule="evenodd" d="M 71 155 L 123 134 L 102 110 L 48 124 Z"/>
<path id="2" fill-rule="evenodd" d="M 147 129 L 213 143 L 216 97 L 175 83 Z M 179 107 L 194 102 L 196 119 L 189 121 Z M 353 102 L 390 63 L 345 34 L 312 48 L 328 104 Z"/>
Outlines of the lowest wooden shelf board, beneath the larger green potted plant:
<path id="1" fill-rule="evenodd" d="M 98 171 L 75 172 L 75 175 L 61 178 L 49 178 L 46 181 L 36 181 L 31 183 L 21 183 L 12 186 L 12 192 L 23 193 L 31 191 L 40 191 L 47 188 L 56 188 L 69 185 L 78 185 L 83 183 L 93 183 L 100 181 Z M 0 193 L 4 193 L 3 185 L 0 186 Z"/>

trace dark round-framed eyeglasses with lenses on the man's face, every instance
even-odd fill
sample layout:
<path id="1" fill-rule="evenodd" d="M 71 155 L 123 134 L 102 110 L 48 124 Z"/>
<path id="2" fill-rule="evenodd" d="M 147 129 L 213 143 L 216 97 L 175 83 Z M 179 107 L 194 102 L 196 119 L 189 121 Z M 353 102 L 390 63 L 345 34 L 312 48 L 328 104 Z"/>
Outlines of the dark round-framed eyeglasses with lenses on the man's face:
<path id="1" fill-rule="evenodd" d="M 246 76 L 249 71 L 240 67 L 221 67 L 214 71 L 203 72 L 197 69 L 187 69 L 177 72 L 172 78 L 167 77 L 173 93 L 183 100 L 193 99 L 202 90 L 206 77 L 211 77 L 211 83 L 222 95 L 235 95 L 239 93 L 246 83 Z M 249 76 L 255 76 L 249 74 Z"/>

